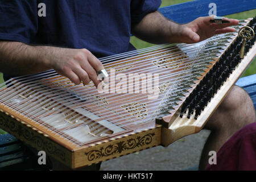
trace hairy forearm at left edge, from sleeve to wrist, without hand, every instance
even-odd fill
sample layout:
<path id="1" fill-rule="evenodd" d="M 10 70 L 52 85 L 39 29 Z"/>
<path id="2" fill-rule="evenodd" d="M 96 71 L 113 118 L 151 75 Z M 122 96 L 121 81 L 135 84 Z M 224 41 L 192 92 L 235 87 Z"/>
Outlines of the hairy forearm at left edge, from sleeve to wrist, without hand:
<path id="1" fill-rule="evenodd" d="M 55 47 L 28 46 L 20 42 L 0 42 L 0 72 L 9 75 L 26 75 L 51 69 L 49 53 Z"/>

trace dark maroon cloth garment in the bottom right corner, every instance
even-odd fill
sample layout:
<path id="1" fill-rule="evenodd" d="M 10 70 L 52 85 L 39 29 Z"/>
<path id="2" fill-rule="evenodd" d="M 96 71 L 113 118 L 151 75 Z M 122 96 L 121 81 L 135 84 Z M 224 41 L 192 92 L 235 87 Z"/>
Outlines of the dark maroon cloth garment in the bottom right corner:
<path id="1" fill-rule="evenodd" d="M 256 122 L 243 127 L 224 143 L 216 159 L 217 164 L 208 164 L 205 170 L 256 170 Z"/>

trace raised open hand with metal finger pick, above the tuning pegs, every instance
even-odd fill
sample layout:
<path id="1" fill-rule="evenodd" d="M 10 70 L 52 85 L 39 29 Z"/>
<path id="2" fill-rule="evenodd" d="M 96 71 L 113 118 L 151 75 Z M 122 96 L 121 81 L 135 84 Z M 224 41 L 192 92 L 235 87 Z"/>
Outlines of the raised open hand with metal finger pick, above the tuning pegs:
<path id="1" fill-rule="evenodd" d="M 210 20 L 212 19 L 213 16 L 205 16 L 197 18 L 190 23 L 181 24 L 180 34 L 178 34 L 180 42 L 197 43 L 216 34 L 234 32 L 236 30 L 230 26 L 234 26 L 239 23 L 236 19 L 228 18 L 223 18 L 223 20 L 229 20 L 230 23 L 210 23 Z"/>

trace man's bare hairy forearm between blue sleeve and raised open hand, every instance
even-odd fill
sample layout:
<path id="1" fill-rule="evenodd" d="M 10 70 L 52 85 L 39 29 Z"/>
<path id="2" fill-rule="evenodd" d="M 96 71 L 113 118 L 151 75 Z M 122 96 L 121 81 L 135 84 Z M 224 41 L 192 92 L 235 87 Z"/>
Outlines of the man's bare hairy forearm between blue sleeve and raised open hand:
<path id="1" fill-rule="evenodd" d="M 132 25 L 132 34 L 154 44 L 180 41 L 182 25 L 165 18 L 158 11 L 147 14 L 141 22 Z"/>

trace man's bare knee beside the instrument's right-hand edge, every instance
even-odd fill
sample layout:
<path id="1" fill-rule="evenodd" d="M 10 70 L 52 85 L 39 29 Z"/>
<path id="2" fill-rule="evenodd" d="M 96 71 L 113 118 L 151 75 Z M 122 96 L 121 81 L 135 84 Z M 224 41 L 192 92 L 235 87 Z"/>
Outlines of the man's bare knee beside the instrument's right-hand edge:
<path id="1" fill-rule="evenodd" d="M 233 86 L 205 125 L 209 130 L 238 130 L 255 122 L 255 109 L 250 96 L 239 86 Z"/>

